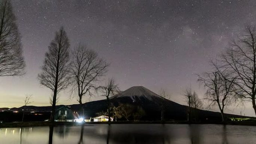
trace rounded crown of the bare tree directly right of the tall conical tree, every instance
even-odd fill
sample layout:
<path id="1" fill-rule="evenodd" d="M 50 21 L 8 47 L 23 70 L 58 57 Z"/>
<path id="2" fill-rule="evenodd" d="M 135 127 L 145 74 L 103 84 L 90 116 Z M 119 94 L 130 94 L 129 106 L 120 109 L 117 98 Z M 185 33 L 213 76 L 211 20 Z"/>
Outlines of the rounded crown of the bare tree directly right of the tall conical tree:
<path id="1" fill-rule="evenodd" d="M 95 88 L 94 82 L 107 72 L 107 62 L 99 58 L 94 50 L 79 45 L 72 52 L 71 77 L 73 91 L 78 93 L 77 100 L 82 104 L 82 97 L 87 93 L 91 95 L 90 89 Z"/>

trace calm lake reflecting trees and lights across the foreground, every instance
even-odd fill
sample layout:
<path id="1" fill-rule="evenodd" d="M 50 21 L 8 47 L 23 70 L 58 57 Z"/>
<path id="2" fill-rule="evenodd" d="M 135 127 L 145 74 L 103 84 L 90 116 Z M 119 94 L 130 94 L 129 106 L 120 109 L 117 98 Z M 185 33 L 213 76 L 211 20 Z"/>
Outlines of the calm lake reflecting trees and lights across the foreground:
<path id="1" fill-rule="evenodd" d="M 182 124 L 112 124 L 109 126 L 97 124 L 83 127 L 57 126 L 53 129 L 48 126 L 0 129 L 0 144 L 255 143 L 256 126 Z"/>

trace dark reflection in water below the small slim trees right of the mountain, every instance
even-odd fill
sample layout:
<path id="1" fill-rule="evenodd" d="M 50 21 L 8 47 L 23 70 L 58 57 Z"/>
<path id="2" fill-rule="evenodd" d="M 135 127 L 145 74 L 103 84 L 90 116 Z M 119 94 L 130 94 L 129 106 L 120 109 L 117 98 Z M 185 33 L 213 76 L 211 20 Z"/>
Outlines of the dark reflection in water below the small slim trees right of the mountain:
<path id="1" fill-rule="evenodd" d="M 189 134 L 191 144 L 200 144 L 200 126 L 199 125 L 189 125 Z"/>

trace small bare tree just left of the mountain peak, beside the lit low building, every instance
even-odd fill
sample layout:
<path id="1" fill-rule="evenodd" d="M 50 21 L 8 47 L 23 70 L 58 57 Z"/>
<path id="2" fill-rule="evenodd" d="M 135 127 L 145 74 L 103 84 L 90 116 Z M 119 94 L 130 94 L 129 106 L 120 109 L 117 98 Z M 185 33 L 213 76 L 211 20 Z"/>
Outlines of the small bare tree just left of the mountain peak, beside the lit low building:
<path id="1" fill-rule="evenodd" d="M 109 122 L 110 122 L 110 97 L 114 96 L 119 93 L 118 85 L 115 83 L 115 79 L 109 79 L 105 86 L 100 86 L 97 89 L 100 89 L 101 92 L 103 92 L 103 96 L 107 98 L 107 113 L 109 116 Z"/>

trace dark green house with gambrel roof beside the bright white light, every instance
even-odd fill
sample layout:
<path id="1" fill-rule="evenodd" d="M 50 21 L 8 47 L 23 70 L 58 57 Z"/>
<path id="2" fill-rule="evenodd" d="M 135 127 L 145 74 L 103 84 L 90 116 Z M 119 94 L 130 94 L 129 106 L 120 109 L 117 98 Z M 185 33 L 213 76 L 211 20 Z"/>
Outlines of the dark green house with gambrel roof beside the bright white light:
<path id="1" fill-rule="evenodd" d="M 79 114 L 67 105 L 61 105 L 56 111 L 54 120 L 57 122 L 80 122 Z"/>

